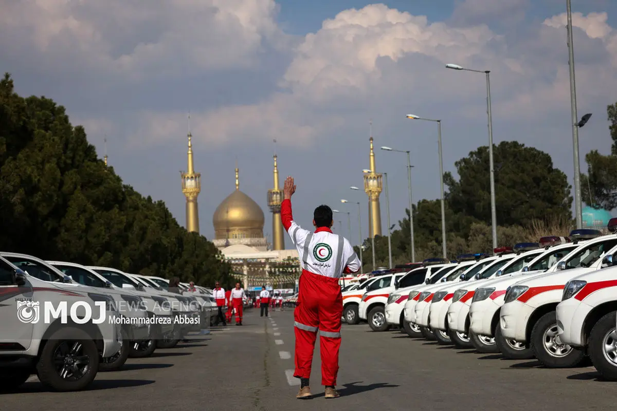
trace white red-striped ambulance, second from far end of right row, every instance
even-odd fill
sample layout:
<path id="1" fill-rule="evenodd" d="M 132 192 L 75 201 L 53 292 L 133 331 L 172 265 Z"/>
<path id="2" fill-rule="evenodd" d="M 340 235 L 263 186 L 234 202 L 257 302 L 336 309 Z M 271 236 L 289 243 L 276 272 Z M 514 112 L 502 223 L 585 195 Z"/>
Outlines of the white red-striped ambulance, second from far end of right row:
<path id="1" fill-rule="evenodd" d="M 420 285 L 431 278 L 439 269 L 449 264 L 450 262 L 443 258 L 428 258 L 423 261 L 423 266 L 407 272 L 407 274 L 397 275 L 396 283 L 392 283 L 389 287 L 384 287 L 375 291 L 367 291 L 362 296 L 362 301 L 358 306 L 358 314 L 360 319 L 367 321 L 373 331 L 386 331 L 390 325 L 386 322 L 386 303 L 392 291 L 396 290 L 396 284 L 400 281 L 404 286 Z"/>

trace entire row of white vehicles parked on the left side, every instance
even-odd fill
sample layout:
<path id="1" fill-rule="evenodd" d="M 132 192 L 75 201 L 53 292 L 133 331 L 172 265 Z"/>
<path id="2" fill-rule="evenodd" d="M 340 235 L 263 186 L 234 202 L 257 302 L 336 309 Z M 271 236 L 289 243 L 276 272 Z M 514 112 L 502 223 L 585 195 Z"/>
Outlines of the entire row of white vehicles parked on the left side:
<path id="1" fill-rule="evenodd" d="M 99 371 L 209 327 L 217 310 L 209 290 L 167 286 L 159 277 L 0 251 L 1 389 L 37 375 L 55 391 L 77 391 Z"/>

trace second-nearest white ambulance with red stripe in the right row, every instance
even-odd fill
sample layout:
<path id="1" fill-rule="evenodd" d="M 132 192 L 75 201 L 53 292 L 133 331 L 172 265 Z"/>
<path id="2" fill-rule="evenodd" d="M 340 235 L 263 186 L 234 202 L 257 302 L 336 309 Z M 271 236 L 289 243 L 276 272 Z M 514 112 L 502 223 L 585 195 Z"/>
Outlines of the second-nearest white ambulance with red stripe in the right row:
<path id="1" fill-rule="evenodd" d="M 574 350 L 558 336 L 555 309 L 569 280 L 597 271 L 604 254 L 617 251 L 617 235 L 598 237 L 600 234 L 597 230 L 574 230 L 570 235 L 573 239 L 597 238 L 571 251 L 544 275 L 516 282 L 505 294 L 499 314 L 500 332 L 507 339 L 528 345 L 546 367 L 575 367 L 584 359 L 583 351 Z"/>

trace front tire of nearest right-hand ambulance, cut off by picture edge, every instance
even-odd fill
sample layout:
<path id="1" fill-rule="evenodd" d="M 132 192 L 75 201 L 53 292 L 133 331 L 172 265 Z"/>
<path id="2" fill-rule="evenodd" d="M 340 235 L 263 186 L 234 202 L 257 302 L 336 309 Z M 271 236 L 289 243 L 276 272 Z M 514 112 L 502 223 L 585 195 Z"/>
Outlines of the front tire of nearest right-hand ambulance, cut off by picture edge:
<path id="1" fill-rule="evenodd" d="M 609 312 L 595 323 L 589 334 L 589 357 L 592 364 L 602 378 L 608 381 L 617 381 L 617 352 L 606 350 L 607 346 L 617 343 L 617 329 L 615 311 Z"/>

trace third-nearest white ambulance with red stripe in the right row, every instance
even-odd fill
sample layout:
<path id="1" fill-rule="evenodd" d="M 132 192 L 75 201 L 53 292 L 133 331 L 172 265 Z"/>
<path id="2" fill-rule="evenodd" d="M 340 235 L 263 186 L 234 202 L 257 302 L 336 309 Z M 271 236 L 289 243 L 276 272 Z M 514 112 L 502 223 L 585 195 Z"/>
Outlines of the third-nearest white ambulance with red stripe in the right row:
<path id="1" fill-rule="evenodd" d="M 497 278 L 491 280 L 490 283 L 482 284 L 482 288 L 477 288 L 473 296 L 468 296 L 467 290 L 455 291 L 453 299 L 471 298 L 469 332 L 486 341 L 487 348 L 491 346 L 492 341 L 495 341 L 495 348 L 504 357 L 510 359 L 532 358 L 533 353 L 529 348 L 526 348 L 526 344 L 506 339 L 500 332 L 499 312 L 504 303 L 506 290 L 523 278 L 530 279 L 544 274 L 545 270 L 557 264 L 582 243 L 585 242 L 570 243 L 567 237 L 542 237 L 540 238 L 540 246 L 544 247 L 544 253 L 532 259 L 522 270 L 508 272 L 508 269 L 504 268 L 501 273 L 498 271 Z M 523 275 L 524 277 L 521 277 Z M 468 334 L 466 333 L 464 336 Z M 462 348 L 470 348 L 471 346 L 473 346 L 471 340 L 467 344 L 461 345 Z"/>

